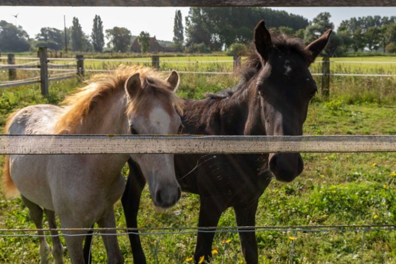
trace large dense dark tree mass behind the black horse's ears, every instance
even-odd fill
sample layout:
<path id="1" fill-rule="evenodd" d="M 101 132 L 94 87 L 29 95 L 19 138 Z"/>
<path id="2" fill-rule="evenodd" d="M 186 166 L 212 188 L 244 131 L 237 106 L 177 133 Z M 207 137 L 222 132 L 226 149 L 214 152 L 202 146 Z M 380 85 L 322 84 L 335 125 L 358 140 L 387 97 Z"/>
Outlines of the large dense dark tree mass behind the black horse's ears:
<path id="1" fill-rule="evenodd" d="M 186 17 L 186 45 L 204 43 L 221 50 L 236 42 L 250 43 L 252 29 L 263 18 L 267 27 L 290 27 L 293 32 L 308 25 L 302 16 L 269 8 L 192 7 Z"/>

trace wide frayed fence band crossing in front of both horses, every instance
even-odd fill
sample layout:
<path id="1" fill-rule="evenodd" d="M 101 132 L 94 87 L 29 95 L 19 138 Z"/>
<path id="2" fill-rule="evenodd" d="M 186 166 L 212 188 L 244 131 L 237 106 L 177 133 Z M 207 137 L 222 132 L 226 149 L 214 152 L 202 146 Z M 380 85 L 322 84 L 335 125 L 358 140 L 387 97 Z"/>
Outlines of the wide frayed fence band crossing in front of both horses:
<path id="1" fill-rule="evenodd" d="M 0 154 L 396 152 L 396 136 L 0 134 Z"/>

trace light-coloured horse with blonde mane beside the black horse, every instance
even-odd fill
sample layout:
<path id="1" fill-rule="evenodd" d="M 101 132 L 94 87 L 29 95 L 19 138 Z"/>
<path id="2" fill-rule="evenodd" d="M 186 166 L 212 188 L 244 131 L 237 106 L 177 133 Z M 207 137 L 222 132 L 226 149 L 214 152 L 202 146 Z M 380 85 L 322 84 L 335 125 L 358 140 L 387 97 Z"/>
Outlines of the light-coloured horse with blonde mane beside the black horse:
<path id="1" fill-rule="evenodd" d="M 98 75 L 65 100 L 63 107 L 37 105 L 14 113 L 9 134 L 177 134 L 177 111 L 182 101 L 174 94 L 177 72 L 164 76 L 147 67 L 120 66 L 115 74 Z M 62 228 L 114 228 L 113 205 L 121 197 L 125 180 L 120 171 L 128 160 L 139 163 L 156 206 L 173 206 L 180 198 L 173 155 L 10 155 L 5 159 L 4 189 L 19 191 L 37 228 L 43 228 L 43 210 L 49 227 L 56 228 L 54 212 Z M 114 233 L 110 230 L 107 233 Z M 81 231 L 65 231 L 72 263 L 84 263 Z M 43 235 L 43 232 L 39 232 Z M 53 231 L 52 235 L 57 232 Z M 122 263 L 117 238 L 102 236 L 108 263 Z M 63 263 L 63 247 L 52 237 L 55 263 Z M 40 238 L 41 263 L 49 258 L 49 246 Z"/>

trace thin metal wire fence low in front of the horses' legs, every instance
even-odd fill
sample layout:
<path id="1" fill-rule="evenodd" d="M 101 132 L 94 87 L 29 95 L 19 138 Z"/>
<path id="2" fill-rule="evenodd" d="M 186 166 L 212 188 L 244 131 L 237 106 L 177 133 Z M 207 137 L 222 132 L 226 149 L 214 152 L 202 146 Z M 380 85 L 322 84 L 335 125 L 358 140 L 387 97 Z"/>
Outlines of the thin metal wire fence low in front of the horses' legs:
<path id="1" fill-rule="evenodd" d="M 359 250 L 360 263 L 364 260 L 364 247 L 365 247 L 365 233 L 375 231 L 395 231 L 396 225 L 390 224 L 361 224 L 361 225 L 289 225 L 289 226 L 217 226 L 217 227 L 145 227 L 145 228 L 43 228 L 43 229 L 0 229 L 0 237 L 11 238 L 21 237 L 23 238 L 21 249 L 21 263 L 24 259 L 25 244 L 30 241 L 31 238 L 36 237 L 67 237 L 67 236 L 127 236 L 130 234 L 141 235 L 141 236 L 156 236 L 156 245 L 154 250 L 154 260 L 158 263 L 158 248 L 161 242 L 161 236 L 163 235 L 182 235 L 182 234 L 197 234 L 202 233 L 224 233 L 228 241 L 230 233 L 242 233 L 242 232 L 291 232 L 293 236 L 289 239 L 292 240 L 290 247 L 290 263 L 293 264 L 295 248 L 298 243 L 298 237 L 302 233 L 329 233 L 329 232 L 361 232 L 361 246 Z M 36 234 L 37 231 L 43 231 L 44 235 Z M 59 231 L 57 235 L 45 234 L 49 231 Z M 88 233 L 88 231 L 92 231 Z M 113 233 L 101 233 L 101 231 L 113 231 Z M 69 233 L 68 233 L 69 232 Z M 92 239 L 93 241 L 94 239 Z M 90 245 L 90 252 L 92 248 L 92 241 Z M 227 245 L 225 243 L 223 249 L 222 263 L 224 263 L 224 255 L 227 253 Z"/>

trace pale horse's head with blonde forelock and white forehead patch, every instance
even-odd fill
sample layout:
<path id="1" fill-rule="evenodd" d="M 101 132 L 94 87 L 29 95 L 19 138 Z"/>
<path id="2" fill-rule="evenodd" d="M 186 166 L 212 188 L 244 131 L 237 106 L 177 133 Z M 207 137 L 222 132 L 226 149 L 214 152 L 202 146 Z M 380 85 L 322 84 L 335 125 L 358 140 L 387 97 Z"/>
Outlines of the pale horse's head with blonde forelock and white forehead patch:
<path id="1" fill-rule="evenodd" d="M 142 77 L 139 73 L 125 82 L 129 97 L 127 110 L 129 132 L 132 134 L 177 134 L 182 103 L 174 91 L 179 75 L 173 71 L 166 80 Z M 171 207 L 180 199 L 181 188 L 176 180 L 173 154 L 134 154 L 131 158 L 148 181 L 148 188 L 156 206 Z"/>

